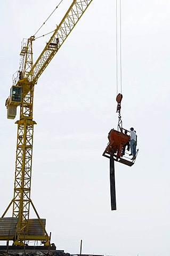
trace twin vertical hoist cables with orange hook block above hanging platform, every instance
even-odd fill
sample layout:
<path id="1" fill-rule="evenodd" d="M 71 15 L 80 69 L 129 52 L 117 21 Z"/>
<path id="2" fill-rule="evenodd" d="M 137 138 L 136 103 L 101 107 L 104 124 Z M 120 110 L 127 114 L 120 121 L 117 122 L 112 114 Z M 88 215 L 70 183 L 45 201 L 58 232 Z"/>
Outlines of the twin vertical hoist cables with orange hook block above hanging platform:
<path id="1" fill-rule="evenodd" d="M 122 17 L 121 0 L 116 0 L 116 89 L 118 130 L 122 131 L 122 117 L 120 115 L 122 95 Z"/>

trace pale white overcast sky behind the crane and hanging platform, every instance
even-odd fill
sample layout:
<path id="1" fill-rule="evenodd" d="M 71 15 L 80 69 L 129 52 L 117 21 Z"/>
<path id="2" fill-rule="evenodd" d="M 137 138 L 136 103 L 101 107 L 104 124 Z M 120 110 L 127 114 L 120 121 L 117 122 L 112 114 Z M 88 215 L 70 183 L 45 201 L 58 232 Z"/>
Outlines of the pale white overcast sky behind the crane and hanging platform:
<path id="1" fill-rule="evenodd" d="M 0 2 L 1 215 L 13 197 L 19 118 L 6 118 L 5 100 L 22 38 L 58 2 Z M 38 35 L 55 29 L 70 3 L 64 0 Z M 123 126 L 135 127 L 140 152 L 133 167 L 116 163 L 117 211 L 111 211 L 109 159 L 102 153 L 118 122 L 115 13 L 116 1 L 94 0 L 39 78 L 31 199 L 58 249 L 79 253 L 83 239 L 82 253 L 169 256 L 170 2 L 122 0 Z M 35 41 L 34 60 L 48 38 Z"/>

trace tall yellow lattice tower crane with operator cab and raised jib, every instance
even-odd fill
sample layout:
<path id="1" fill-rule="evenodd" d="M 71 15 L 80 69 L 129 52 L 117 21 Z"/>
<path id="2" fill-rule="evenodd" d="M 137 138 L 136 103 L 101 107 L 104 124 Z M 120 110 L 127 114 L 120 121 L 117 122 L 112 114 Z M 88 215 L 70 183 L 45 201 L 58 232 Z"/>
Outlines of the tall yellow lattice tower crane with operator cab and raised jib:
<path id="1" fill-rule="evenodd" d="M 33 41 L 35 36 L 22 43 L 20 70 L 13 79 L 10 96 L 6 100 L 7 118 L 14 119 L 20 106 L 20 119 L 17 134 L 17 154 L 15 161 L 14 195 L 9 206 L 0 218 L 0 240 L 13 240 L 13 245 L 22 246 L 23 241 L 42 241 L 50 243 L 45 230 L 45 221 L 40 219 L 30 198 L 31 170 L 33 158 L 33 102 L 34 86 L 56 52 L 60 49 L 76 23 L 82 17 L 93 0 L 74 0 L 59 26 L 54 30 L 44 50 L 33 64 Z M 4 218 L 10 206 L 13 206 L 12 218 Z M 30 205 L 37 215 L 35 223 L 29 219 Z M 32 225 L 32 229 L 30 228 Z M 39 225 L 38 229 L 36 229 Z"/>

